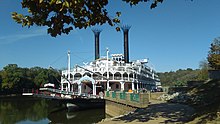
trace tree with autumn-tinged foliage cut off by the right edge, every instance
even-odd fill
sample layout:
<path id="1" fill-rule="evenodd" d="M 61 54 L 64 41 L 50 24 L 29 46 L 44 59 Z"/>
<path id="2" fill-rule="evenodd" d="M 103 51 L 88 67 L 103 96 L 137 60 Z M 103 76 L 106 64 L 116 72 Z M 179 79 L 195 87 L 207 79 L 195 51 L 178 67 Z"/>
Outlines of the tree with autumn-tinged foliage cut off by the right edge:
<path id="1" fill-rule="evenodd" d="M 211 68 L 220 70 L 220 37 L 215 38 L 211 43 L 207 59 Z"/>

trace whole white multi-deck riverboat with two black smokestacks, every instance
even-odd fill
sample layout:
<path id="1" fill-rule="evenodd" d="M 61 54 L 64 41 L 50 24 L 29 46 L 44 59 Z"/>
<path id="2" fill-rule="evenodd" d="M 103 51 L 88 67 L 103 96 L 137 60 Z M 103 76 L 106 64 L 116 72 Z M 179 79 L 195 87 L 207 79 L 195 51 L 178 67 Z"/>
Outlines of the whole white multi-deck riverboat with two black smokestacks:
<path id="1" fill-rule="evenodd" d="M 79 95 L 103 95 L 103 91 L 139 91 L 156 89 L 161 86 L 156 71 L 148 66 L 148 59 L 129 62 L 128 30 L 124 31 L 124 54 L 111 54 L 99 57 L 99 30 L 95 34 L 95 60 L 82 66 L 70 68 L 68 52 L 68 69 L 62 71 L 61 90 L 75 92 Z M 109 57 L 110 56 L 110 57 Z"/>

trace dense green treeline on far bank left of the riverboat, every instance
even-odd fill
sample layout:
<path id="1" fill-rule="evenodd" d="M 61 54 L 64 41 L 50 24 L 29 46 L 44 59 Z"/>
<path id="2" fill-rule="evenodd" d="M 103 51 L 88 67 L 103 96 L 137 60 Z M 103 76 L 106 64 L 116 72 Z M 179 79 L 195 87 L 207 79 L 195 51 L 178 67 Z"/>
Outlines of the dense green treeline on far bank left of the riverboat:
<path id="1" fill-rule="evenodd" d="M 41 67 L 21 68 L 17 64 L 9 64 L 0 71 L 0 92 L 2 94 L 20 93 L 23 89 L 38 89 L 45 83 L 60 82 L 60 71 Z"/>

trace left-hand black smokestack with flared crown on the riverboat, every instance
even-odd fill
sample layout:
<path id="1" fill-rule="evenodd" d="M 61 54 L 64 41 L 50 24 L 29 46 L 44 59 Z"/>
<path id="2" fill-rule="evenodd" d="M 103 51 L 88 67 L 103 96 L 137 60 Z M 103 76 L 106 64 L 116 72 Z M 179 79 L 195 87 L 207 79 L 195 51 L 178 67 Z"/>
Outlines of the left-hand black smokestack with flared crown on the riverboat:
<path id="1" fill-rule="evenodd" d="M 95 60 L 100 58 L 99 54 L 99 35 L 101 30 L 99 29 L 92 29 L 94 35 L 95 35 Z"/>

